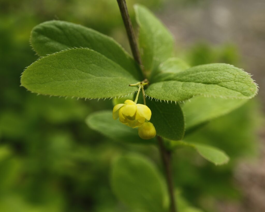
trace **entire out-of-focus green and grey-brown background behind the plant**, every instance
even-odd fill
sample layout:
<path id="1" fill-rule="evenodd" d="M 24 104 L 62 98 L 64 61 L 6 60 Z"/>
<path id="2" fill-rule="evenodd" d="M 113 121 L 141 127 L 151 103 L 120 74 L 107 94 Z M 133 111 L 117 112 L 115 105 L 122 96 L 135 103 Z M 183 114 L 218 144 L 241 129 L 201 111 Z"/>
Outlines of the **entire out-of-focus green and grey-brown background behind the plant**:
<path id="1" fill-rule="evenodd" d="M 133 22 L 134 3 L 161 18 L 176 38 L 177 55 L 189 64 L 234 64 L 260 86 L 255 99 L 187 138 L 226 151 L 227 165 L 216 167 L 189 149 L 174 155 L 175 186 L 209 212 L 265 211 L 265 4 L 240 2 L 128 1 Z M 30 31 L 53 19 L 96 29 L 130 51 L 115 0 L 0 0 L 0 211 L 129 211 L 111 191 L 111 161 L 140 152 L 162 171 L 157 149 L 113 142 L 86 126 L 87 115 L 111 109 L 111 101 L 50 98 L 20 87 L 23 69 L 38 59 Z"/>

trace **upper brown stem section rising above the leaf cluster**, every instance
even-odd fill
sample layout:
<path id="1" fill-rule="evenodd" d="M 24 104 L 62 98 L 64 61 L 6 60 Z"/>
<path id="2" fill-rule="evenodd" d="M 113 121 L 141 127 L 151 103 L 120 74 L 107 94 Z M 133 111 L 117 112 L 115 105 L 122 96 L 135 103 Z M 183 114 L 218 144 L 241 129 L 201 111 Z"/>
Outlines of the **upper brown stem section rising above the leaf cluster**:
<path id="1" fill-rule="evenodd" d="M 133 57 L 138 62 L 140 67 L 142 67 L 140 52 L 139 52 L 138 45 L 136 42 L 136 38 L 135 38 L 134 30 L 133 30 L 133 25 L 131 23 L 131 19 L 130 19 L 129 12 L 127 9 L 126 1 L 125 0 L 117 0 L 117 2 L 119 5 L 119 8 L 120 8 L 122 20 L 123 20 L 123 23 L 124 23 L 124 26 L 125 26 L 125 29 L 127 32 L 127 36 L 129 39 L 129 43 L 130 43 L 131 51 L 133 53 Z M 144 72 L 143 72 L 143 74 L 145 77 Z"/>

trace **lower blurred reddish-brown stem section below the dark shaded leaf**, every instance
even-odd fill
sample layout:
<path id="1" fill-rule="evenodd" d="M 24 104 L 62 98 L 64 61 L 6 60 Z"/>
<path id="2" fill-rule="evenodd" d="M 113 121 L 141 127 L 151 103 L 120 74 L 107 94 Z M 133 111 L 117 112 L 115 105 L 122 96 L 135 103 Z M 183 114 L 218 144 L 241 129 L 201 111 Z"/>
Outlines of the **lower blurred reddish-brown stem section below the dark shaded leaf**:
<path id="1" fill-rule="evenodd" d="M 168 188 L 169 198 L 170 198 L 170 211 L 177 212 L 178 210 L 176 207 L 174 184 L 173 184 L 172 170 L 171 170 L 171 152 L 165 149 L 163 139 L 160 136 L 157 136 L 157 140 L 158 140 L 158 145 L 159 145 L 163 165 L 165 167 L 167 188 Z"/>

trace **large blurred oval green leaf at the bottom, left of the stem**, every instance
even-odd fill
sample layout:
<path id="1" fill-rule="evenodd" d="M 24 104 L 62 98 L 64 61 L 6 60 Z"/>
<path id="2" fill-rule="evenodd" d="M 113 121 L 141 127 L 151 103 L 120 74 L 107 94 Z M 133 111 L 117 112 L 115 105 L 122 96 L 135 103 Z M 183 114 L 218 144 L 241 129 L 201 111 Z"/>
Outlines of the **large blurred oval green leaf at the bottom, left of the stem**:
<path id="1" fill-rule="evenodd" d="M 111 185 L 118 199 L 134 210 L 163 212 L 168 207 L 165 183 L 143 156 L 118 157 L 112 166 Z"/>

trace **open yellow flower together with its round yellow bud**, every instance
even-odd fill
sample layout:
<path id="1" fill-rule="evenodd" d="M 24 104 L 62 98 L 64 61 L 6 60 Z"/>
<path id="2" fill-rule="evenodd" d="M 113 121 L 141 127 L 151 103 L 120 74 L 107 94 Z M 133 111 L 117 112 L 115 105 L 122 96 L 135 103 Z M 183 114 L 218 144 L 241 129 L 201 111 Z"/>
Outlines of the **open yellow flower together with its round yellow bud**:
<path id="1" fill-rule="evenodd" d="M 120 122 L 138 128 L 138 134 L 142 139 L 151 139 L 156 135 L 156 129 L 151 122 L 151 110 L 143 104 L 136 104 L 127 99 L 124 104 L 117 104 L 113 108 L 113 119 L 120 119 Z M 147 122 L 146 122 L 147 121 Z"/>

